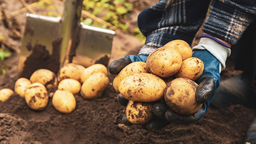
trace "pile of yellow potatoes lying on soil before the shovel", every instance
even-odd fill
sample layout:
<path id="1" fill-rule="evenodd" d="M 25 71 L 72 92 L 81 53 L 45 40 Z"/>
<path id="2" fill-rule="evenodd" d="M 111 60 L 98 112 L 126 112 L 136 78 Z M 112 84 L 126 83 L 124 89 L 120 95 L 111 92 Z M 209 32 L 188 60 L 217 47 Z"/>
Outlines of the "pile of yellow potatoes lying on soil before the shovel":
<path id="1" fill-rule="evenodd" d="M 109 84 L 107 68 L 94 64 L 87 68 L 68 63 L 59 69 L 56 76 L 51 70 L 38 69 L 27 78 L 19 78 L 14 84 L 14 92 L 23 97 L 27 105 L 34 110 L 43 110 L 52 97 L 52 105 L 61 113 L 71 113 L 76 108 L 74 94 L 80 92 L 84 99 L 96 99 L 101 96 Z M 49 93 L 47 90 L 54 90 Z M 13 93 L 11 89 L 0 90 L 0 101 L 5 101 Z"/>

